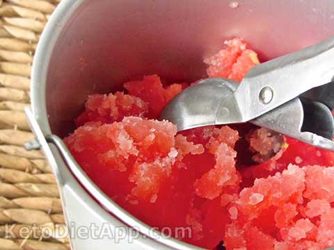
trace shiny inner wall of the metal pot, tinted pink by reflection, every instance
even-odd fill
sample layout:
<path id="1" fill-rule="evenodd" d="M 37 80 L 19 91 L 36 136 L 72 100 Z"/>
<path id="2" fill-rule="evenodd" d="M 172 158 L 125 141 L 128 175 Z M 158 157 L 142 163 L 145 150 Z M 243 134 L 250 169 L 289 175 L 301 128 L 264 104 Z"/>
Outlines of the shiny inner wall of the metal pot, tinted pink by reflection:
<path id="1" fill-rule="evenodd" d="M 52 133 L 67 135 L 88 94 L 145 74 L 205 77 L 203 58 L 242 37 L 260 60 L 334 35 L 332 0 L 93 0 L 63 26 L 47 74 Z"/>

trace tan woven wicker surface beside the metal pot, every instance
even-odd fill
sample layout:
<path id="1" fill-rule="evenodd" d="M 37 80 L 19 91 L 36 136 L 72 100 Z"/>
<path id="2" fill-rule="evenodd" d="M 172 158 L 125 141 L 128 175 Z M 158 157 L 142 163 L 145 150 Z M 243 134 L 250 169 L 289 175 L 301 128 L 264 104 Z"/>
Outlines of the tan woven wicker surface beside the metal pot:
<path id="1" fill-rule="evenodd" d="M 51 169 L 22 147 L 34 137 L 23 113 L 33 54 L 59 1 L 0 0 L 0 250 L 70 249 Z"/>

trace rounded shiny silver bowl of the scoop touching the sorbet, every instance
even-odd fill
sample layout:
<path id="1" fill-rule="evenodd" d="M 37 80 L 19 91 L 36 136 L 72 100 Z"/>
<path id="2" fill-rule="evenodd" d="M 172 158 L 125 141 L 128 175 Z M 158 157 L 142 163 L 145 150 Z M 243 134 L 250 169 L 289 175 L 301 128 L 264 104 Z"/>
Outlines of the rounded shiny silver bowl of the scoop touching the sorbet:
<path id="1" fill-rule="evenodd" d="M 177 94 L 161 112 L 182 131 L 198 126 L 242 122 L 234 100 L 238 83 L 223 78 L 207 78 Z"/>

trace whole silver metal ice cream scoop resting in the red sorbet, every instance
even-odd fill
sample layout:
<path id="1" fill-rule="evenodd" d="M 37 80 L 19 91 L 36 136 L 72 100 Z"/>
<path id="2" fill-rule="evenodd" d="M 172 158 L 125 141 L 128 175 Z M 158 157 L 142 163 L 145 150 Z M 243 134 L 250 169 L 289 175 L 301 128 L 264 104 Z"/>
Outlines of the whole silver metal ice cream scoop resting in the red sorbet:
<path id="1" fill-rule="evenodd" d="M 334 38 L 250 69 L 241 83 L 207 78 L 174 97 L 160 118 L 178 131 L 251 122 L 334 151 Z"/>

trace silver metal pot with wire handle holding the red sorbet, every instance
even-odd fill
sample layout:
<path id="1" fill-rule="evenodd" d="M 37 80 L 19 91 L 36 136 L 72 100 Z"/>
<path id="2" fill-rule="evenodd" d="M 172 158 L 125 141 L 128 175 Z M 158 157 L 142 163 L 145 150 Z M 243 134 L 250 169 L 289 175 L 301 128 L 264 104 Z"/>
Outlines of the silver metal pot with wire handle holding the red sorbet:
<path id="1" fill-rule="evenodd" d="M 332 0 L 63 0 L 35 54 L 32 113 L 27 111 L 58 184 L 67 224 L 109 222 L 119 233 L 142 237 L 72 238 L 74 249 L 199 249 L 161 235 L 100 191 L 60 138 L 88 94 L 106 93 L 145 74 L 176 82 L 205 76 L 203 58 L 232 37 L 247 40 L 267 60 L 334 35 Z M 66 163 L 65 163 L 66 162 Z M 123 232 L 124 233 L 124 232 Z M 74 235 L 72 235 L 74 236 Z M 129 236 L 129 237 L 127 237 Z M 131 239 L 130 239 L 131 238 Z"/>

